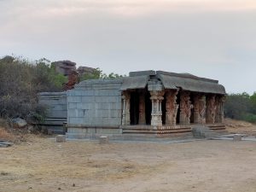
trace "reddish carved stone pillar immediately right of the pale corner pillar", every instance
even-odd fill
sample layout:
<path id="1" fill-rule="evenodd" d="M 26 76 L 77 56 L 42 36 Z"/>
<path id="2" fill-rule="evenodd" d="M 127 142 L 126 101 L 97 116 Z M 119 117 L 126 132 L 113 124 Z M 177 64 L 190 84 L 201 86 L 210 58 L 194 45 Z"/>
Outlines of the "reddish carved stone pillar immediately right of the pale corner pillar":
<path id="1" fill-rule="evenodd" d="M 166 91 L 166 125 L 176 125 L 177 118 L 177 100 L 178 90 Z"/>

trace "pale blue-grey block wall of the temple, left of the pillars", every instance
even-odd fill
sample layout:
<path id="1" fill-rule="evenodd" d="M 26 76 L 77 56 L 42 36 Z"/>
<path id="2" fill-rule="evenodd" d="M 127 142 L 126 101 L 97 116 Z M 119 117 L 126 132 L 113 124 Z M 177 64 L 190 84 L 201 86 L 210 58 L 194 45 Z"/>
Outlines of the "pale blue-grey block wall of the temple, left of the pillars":
<path id="1" fill-rule="evenodd" d="M 67 125 L 121 125 L 121 79 L 87 80 L 67 90 Z"/>

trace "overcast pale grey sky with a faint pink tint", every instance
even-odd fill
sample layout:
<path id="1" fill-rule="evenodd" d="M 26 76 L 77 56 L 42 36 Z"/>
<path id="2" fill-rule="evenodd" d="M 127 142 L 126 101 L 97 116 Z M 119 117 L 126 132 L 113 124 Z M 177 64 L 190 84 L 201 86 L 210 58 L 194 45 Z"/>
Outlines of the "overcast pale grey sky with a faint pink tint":
<path id="1" fill-rule="evenodd" d="M 218 79 L 256 91 L 255 0 L 0 0 L 0 56 Z"/>

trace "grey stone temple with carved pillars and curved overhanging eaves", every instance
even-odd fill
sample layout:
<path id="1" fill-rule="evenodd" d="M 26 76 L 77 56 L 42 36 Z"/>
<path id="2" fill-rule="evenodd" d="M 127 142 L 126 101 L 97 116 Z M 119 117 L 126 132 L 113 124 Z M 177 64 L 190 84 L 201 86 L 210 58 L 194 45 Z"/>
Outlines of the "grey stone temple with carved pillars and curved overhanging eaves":
<path id="1" fill-rule="evenodd" d="M 131 72 L 86 80 L 61 93 L 62 100 L 63 94 L 69 138 L 176 137 L 202 125 L 224 129 L 224 86 L 189 73 Z"/>

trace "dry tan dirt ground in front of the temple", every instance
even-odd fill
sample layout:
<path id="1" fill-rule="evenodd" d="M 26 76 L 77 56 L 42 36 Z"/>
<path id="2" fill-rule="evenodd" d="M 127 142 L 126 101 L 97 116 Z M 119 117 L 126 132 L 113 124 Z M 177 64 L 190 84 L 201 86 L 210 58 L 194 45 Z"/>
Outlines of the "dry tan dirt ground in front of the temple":
<path id="1" fill-rule="evenodd" d="M 256 191 L 256 142 L 26 140 L 0 148 L 1 192 Z"/>

